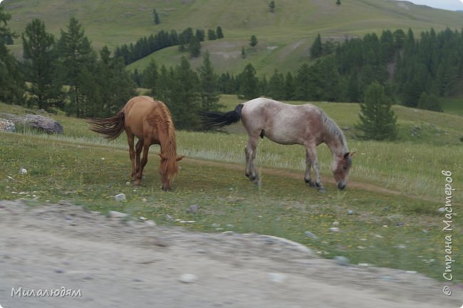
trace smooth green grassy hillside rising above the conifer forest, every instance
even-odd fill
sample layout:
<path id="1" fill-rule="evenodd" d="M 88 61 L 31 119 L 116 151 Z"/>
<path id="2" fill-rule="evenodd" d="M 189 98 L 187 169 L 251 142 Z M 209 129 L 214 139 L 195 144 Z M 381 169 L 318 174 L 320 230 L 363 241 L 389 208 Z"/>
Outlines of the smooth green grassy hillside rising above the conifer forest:
<path id="1" fill-rule="evenodd" d="M 434 28 L 460 29 L 463 14 L 430 9 L 407 1 L 350 0 L 340 6 L 335 1 L 312 0 L 276 1 L 271 13 L 268 1 L 250 0 L 236 5 L 225 0 L 194 1 L 121 1 L 121 0 L 5 0 L 2 5 L 11 14 L 11 29 L 21 33 L 33 18 L 45 21 L 47 31 L 59 35 L 71 16 L 83 24 L 85 34 L 97 49 L 108 45 L 111 49 L 122 43 L 135 42 L 142 36 L 160 30 L 182 31 L 215 29 L 222 26 L 225 38 L 203 43 L 208 49 L 217 71 L 236 73 L 251 61 L 259 74 L 294 71 L 308 61 L 308 48 L 316 34 L 323 39 L 343 40 L 383 29 L 408 29 L 417 34 Z M 161 24 L 152 21 L 152 9 L 160 14 Z M 259 44 L 247 51 L 245 61 L 241 48 L 248 48 L 251 35 Z M 21 56 L 20 40 L 11 46 Z M 248 48 L 250 49 L 250 48 Z M 159 63 L 171 66 L 178 63 L 177 48 L 167 48 L 155 54 Z M 131 68 L 145 66 L 148 59 L 134 63 Z M 193 61 L 197 66 L 201 59 Z"/>

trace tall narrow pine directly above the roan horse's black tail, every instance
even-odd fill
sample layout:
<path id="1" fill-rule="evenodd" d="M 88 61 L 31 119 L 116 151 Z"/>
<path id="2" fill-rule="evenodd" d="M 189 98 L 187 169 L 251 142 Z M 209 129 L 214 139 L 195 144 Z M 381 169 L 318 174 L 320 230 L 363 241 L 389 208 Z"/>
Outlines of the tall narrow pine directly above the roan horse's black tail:
<path id="1" fill-rule="evenodd" d="M 219 105 L 219 77 L 214 73 L 209 51 L 204 54 L 202 66 L 198 69 L 199 72 L 199 95 L 201 96 L 201 107 L 204 111 L 217 111 Z"/>

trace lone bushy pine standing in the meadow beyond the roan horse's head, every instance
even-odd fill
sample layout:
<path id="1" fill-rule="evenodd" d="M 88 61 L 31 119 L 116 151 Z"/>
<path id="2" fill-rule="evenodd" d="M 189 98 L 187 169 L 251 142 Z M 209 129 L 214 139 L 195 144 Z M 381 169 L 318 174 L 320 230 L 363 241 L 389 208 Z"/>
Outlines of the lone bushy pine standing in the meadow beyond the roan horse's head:
<path id="1" fill-rule="evenodd" d="M 391 110 L 392 102 L 380 83 L 372 83 L 365 91 L 365 101 L 360 104 L 360 123 L 355 125 L 362 130 L 362 138 L 373 140 L 393 140 L 397 135 L 397 117 Z"/>

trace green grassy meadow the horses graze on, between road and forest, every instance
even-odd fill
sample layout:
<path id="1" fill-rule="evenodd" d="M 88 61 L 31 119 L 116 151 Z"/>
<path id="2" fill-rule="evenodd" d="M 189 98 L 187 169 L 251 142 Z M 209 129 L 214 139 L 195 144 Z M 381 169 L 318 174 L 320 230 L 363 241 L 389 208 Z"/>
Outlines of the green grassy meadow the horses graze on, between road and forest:
<path id="1" fill-rule="evenodd" d="M 223 96 L 227 108 L 240 101 Z M 442 279 L 444 270 L 445 178 L 453 175 L 453 258 L 460 260 L 462 243 L 462 142 L 459 116 L 395 107 L 401 140 L 372 142 L 353 138 L 357 107 L 317 103 L 341 127 L 355 148 L 348 188 L 338 191 L 326 145 L 318 147 L 328 192 L 318 193 L 303 182 L 304 150 L 262 140 L 258 147 L 259 188 L 244 176 L 246 135 L 241 124 L 224 133 L 177 132 L 180 175 L 173 190 L 160 190 L 159 147 L 150 150 L 142 185 L 127 185 L 130 162 L 125 138 L 108 142 L 90 132 L 83 120 L 53 116 L 64 135 L 22 129 L 0 133 L 0 199 L 24 198 L 31 205 L 68 200 L 91 210 L 128 212 L 162 225 L 182 225 L 207 232 L 259 232 L 286 237 L 311 247 L 322 257 L 343 255 L 353 264 L 415 270 Z M 0 104 L 0 111 L 22 114 L 17 106 Z M 421 125 L 421 126 L 420 126 Z M 410 128 L 420 126 L 412 137 Z M 26 168 L 26 175 L 19 174 Z M 118 202 L 114 195 L 125 193 Z M 199 206 L 189 213 L 190 205 Z M 351 212 L 350 212 L 351 211 Z M 167 215 L 173 220 L 167 219 Z M 176 221 L 179 220 L 179 221 Z M 194 221 L 184 223 L 183 221 Z M 338 227 L 333 232 L 331 227 Z M 318 239 L 307 237 L 304 232 Z M 454 282 L 463 281 L 461 262 L 452 267 Z"/>

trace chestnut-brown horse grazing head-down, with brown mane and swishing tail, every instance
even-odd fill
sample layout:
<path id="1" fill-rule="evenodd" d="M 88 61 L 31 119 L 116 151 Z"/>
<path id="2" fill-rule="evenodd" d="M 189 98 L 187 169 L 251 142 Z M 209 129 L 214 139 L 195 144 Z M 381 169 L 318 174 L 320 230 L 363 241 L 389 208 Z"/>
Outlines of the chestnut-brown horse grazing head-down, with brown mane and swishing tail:
<path id="1" fill-rule="evenodd" d="M 164 103 L 155 101 L 149 96 L 137 96 L 130 99 L 124 108 L 110 118 L 88 119 L 90 130 L 103 134 L 105 138 L 115 139 L 125 130 L 129 143 L 130 161 L 132 163 L 132 180 L 140 185 L 143 168 L 148 161 L 150 145 L 161 146 L 160 175 L 162 190 L 170 190 L 174 175 L 178 173 L 177 144 L 172 116 Z M 135 137 L 138 138 L 135 149 Z M 140 162 L 140 153 L 143 158 Z"/>

